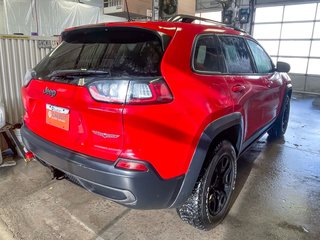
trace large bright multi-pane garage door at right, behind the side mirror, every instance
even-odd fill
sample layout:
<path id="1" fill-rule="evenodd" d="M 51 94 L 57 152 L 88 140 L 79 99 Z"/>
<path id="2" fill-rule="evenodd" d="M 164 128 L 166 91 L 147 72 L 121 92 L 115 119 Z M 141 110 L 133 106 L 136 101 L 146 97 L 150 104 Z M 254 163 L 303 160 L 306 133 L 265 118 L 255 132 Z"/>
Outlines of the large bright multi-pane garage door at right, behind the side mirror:
<path id="1" fill-rule="evenodd" d="M 280 2 L 277 6 L 256 6 L 253 36 L 274 62 L 291 65 L 294 90 L 319 94 L 320 1 Z"/>

